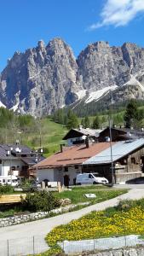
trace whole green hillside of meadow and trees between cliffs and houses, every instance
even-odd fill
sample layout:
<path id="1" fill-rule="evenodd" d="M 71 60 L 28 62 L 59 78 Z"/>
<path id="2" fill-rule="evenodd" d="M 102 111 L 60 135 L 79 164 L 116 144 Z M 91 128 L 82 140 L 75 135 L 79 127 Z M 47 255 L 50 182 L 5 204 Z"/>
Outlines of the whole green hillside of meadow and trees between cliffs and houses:
<path id="1" fill-rule="evenodd" d="M 59 109 L 54 115 L 34 119 L 31 115 L 18 115 L 7 108 L 0 108 L 0 143 L 21 143 L 31 148 L 43 148 L 50 155 L 60 149 L 62 137 L 71 128 L 103 129 L 108 125 L 127 126 L 140 129 L 144 126 L 144 107 L 142 102 L 131 100 L 126 108 L 110 108 L 95 112 L 93 116 L 79 118 L 71 109 Z"/>

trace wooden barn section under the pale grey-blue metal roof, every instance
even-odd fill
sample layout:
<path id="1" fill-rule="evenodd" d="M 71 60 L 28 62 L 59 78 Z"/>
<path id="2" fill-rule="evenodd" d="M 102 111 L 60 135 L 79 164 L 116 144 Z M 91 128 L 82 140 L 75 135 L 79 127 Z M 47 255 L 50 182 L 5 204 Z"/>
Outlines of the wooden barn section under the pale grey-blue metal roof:
<path id="1" fill-rule="evenodd" d="M 94 157 L 83 162 L 84 172 L 99 172 L 112 182 L 125 183 L 144 172 L 144 139 L 121 141 L 112 143 L 109 147 Z"/>

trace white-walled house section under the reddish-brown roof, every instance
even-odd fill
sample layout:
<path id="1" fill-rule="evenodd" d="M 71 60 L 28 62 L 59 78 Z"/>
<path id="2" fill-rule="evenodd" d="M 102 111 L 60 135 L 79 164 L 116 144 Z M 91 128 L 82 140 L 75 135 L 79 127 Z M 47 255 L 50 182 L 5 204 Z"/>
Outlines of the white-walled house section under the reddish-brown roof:
<path id="1" fill-rule="evenodd" d="M 49 181 L 60 181 L 66 186 L 74 184 L 77 174 L 83 171 L 83 162 L 88 160 L 102 150 L 109 148 L 109 143 L 93 143 L 88 145 L 75 145 L 65 148 L 62 152 L 53 154 L 30 168 L 30 173 L 38 177 L 41 182 L 44 179 Z"/>

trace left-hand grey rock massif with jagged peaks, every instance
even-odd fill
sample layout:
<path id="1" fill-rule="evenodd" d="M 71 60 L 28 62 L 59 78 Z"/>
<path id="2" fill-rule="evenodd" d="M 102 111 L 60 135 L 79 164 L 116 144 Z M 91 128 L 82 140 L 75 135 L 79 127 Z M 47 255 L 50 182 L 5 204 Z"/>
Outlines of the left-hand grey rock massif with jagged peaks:
<path id="1" fill-rule="evenodd" d="M 60 38 L 43 41 L 24 54 L 15 52 L 3 70 L 0 100 L 8 108 L 42 115 L 75 101 L 78 65 L 72 49 Z"/>

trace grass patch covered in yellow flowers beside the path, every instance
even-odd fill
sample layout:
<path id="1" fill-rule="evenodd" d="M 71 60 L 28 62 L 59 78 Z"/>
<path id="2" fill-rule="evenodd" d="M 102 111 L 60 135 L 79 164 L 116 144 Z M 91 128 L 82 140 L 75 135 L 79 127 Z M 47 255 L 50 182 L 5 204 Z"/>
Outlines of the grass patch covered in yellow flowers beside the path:
<path id="1" fill-rule="evenodd" d="M 77 241 L 101 237 L 141 235 L 144 237 L 144 199 L 120 201 L 118 207 L 91 212 L 71 223 L 60 225 L 49 232 L 46 241 L 55 246 L 57 241 Z"/>

